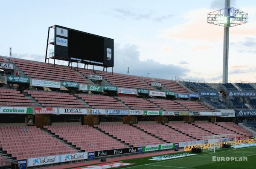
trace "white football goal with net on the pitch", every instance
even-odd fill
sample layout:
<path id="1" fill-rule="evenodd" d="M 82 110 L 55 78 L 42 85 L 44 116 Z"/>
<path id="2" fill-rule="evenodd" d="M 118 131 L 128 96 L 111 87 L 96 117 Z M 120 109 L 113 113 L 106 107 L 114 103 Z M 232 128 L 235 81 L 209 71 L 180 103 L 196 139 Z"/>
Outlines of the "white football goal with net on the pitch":
<path id="1" fill-rule="evenodd" d="M 215 153 L 220 149 L 236 149 L 232 147 L 236 147 L 236 134 L 204 136 L 204 140 L 207 144 L 205 144 L 203 152 Z M 226 146 L 223 146 L 224 144 Z"/>

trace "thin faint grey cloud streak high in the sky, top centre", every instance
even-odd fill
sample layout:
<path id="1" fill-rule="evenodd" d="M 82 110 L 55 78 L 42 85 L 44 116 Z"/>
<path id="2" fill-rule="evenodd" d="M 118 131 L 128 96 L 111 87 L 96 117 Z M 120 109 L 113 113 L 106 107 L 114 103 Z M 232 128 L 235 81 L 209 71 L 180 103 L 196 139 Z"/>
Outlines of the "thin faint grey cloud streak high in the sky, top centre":
<path id="1" fill-rule="evenodd" d="M 155 16 L 154 11 L 147 11 L 146 13 L 142 13 L 142 10 L 138 9 L 113 9 L 111 12 L 104 11 L 106 14 L 111 14 L 113 17 L 127 20 L 127 19 L 134 19 L 134 20 L 152 20 L 155 22 L 162 22 L 163 20 L 167 20 L 171 18 L 172 14 L 160 15 Z"/>

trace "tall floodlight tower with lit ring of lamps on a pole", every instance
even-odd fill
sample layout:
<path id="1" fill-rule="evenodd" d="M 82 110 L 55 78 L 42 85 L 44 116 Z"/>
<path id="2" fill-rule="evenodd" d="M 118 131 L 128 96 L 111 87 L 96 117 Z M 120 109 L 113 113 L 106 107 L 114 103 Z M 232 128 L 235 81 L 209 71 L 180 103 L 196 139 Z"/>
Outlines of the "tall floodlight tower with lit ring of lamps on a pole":
<path id="1" fill-rule="evenodd" d="M 229 47 L 229 28 L 247 23 L 248 14 L 236 9 L 230 8 L 230 0 L 225 0 L 225 8 L 208 13 L 207 23 L 218 26 L 224 26 L 223 43 L 223 72 L 222 82 L 227 83 L 228 75 L 228 47 Z"/>

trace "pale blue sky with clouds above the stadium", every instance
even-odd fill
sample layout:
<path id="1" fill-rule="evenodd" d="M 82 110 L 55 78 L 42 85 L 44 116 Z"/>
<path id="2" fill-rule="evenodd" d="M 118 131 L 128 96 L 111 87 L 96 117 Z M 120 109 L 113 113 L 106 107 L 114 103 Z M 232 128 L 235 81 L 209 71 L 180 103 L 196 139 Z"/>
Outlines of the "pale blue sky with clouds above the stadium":
<path id="1" fill-rule="evenodd" d="M 230 28 L 228 80 L 255 83 L 256 1 L 231 7 L 248 23 Z M 12 57 L 44 62 L 48 27 L 60 25 L 114 39 L 114 72 L 219 83 L 224 28 L 207 23 L 207 13 L 222 8 L 224 0 L 5 0 L 0 55 L 12 47 Z"/>

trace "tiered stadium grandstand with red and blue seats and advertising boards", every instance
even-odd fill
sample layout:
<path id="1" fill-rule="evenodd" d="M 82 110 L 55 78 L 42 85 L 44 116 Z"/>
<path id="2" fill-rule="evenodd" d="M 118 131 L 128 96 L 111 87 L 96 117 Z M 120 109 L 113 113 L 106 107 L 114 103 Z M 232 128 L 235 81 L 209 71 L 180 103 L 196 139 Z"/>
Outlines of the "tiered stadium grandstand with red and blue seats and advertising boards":
<path id="1" fill-rule="evenodd" d="M 251 83 L 154 79 L 10 57 L 0 62 L 8 66 L 0 79 L 3 168 L 54 155 L 102 158 L 113 149 L 137 153 L 173 143 L 183 149 L 207 136 L 245 139 L 256 132 L 244 113 L 256 106 Z"/>

